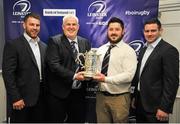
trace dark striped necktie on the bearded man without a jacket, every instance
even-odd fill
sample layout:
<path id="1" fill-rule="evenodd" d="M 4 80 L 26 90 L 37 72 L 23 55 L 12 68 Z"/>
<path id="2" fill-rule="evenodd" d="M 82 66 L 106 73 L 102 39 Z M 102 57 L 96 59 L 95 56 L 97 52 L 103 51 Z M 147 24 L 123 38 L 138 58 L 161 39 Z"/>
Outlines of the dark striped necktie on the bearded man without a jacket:
<path id="1" fill-rule="evenodd" d="M 109 58 L 110 58 L 110 53 L 111 53 L 111 49 L 114 47 L 115 45 L 110 45 L 106 54 L 104 55 L 104 59 L 102 62 L 102 68 L 101 68 L 101 73 L 104 74 L 105 76 L 107 76 L 107 70 L 108 70 L 108 66 L 109 66 Z"/>

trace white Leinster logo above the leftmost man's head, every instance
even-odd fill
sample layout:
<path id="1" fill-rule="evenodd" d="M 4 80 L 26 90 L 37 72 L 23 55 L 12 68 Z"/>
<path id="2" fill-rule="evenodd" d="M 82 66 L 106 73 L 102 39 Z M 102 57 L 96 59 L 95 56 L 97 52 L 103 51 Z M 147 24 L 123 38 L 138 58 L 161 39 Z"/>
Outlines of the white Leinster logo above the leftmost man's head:
<path id="1" fill-rule="evenodd" d="M 19 0 L 13 5 L 14 16 L 25 16 L 31 8 L 31 3 L 28 0 Z"/>

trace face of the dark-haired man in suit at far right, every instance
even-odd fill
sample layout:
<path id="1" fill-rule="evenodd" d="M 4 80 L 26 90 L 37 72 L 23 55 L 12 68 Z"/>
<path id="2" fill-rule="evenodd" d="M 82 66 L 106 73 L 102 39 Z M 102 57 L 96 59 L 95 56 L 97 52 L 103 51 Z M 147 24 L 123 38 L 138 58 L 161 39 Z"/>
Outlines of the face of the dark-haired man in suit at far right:
<path id="1" fill-rule="evenodd" d="M 156 23 L 146 24 L 144 26 L 144 37 L 148 43 L 155 42 L 162 34 L 162 28 Z"/>

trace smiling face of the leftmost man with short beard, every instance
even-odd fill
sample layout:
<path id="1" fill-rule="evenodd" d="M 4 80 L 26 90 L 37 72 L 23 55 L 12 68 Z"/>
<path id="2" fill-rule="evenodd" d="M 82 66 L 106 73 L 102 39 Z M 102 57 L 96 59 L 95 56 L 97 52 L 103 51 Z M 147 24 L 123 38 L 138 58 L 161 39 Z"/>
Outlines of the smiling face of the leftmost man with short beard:
<path id="1" fill-rule="evenodd" d="M 40 20 L 29 17 L 24 23 L 23 28 L 25 32 L 32 38 L 36 39 L 40 32 Z"/>

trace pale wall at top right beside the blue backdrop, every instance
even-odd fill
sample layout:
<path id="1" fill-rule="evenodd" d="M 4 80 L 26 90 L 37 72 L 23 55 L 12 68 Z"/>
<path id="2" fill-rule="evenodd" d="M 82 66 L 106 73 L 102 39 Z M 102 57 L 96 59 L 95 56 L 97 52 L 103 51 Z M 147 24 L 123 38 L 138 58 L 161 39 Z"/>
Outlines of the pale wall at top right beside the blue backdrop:
<path id="1" fill-rule="evenodd" d="M 163 38 L 180 51 L 180 0 L 160 0 L 159 5 Z"/>

